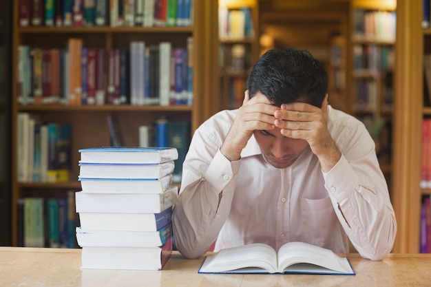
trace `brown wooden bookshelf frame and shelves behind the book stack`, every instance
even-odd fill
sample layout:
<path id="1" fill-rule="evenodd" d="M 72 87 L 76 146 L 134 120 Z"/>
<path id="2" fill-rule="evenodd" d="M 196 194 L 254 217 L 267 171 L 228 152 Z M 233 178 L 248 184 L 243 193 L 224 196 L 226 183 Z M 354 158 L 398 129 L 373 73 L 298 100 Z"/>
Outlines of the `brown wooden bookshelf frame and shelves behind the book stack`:
<path id="1" fill-rule="evenodd" d="M 169 120 L 185 120 L 194 131 L 214 111 L 213 98 L 218 96 L 217 59 L 211 56 L 218 44 L 215 1 L 193 1 L 193 25 L 189 27 L 21 27 L 19 1 L 13 1 L 12 39 L 12 246 L 17 246 L 17 201 L 37 196 L 65 197 L 67 191 L 78 191 L 78 149 L 110 145 L 107 116 L 118 118 L 124 145 L 138 145 L 139 125 L 150 125 L 160 116 Z M 109 1 L 108 1 L 109 3 Z M 209 36 L 210 35 L 210 36 Z M 213 36 L 212 36 L 213 35 Z M 18 103 L 18 47 L 63 48 L 67 39 L 83 39 L 87 47 L 128 49 L 131 41 L 156 44 L 171 42 L 172 47 L 186 47 L 193 37 L 193 103 L 191 105 L 21 105 Z M 107 59 L 107 58 L 106 58 Z M 107 71 L 105 71 L 106 74 Z M 127 79 L 129 81 L 129 79 Z M 211 88 L 212 87 L 212 88 Z M 210 89 L 209 89 L 210 88 Z M 21 112 L 37 114 L 43 122 L 72 123 L 72 171 L 68 182 L 17 181 L 17 115 Z"/>

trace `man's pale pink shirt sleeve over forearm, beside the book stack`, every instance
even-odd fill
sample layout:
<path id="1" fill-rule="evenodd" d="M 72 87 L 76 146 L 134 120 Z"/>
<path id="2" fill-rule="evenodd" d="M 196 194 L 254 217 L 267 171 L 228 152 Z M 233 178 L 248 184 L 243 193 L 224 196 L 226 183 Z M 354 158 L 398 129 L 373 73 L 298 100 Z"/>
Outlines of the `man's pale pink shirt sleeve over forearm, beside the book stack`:
<path id="1" fill-rule="evenodd" d="M 199 131 L 193 136 L 172 215 L 176 247 L 189 258 L 205 253 L 220 233 L 231 210 L 240 165 L 239 160 L 224 157 L 220 142 L 207 140 L 211 137 Z"/>

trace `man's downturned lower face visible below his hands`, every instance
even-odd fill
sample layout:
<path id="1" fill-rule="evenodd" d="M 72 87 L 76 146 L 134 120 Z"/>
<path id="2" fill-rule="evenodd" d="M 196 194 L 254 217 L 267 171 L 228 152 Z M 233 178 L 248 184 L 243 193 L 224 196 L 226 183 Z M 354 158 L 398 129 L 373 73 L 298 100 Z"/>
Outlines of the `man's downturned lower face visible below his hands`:
<path id="1" fill-rule="evenodd" d="M 266 161 L 277 169 L 289 167 L 308 146 L 306 140 L 286 138 L 277 127 L 271 131 L 256 130 L 253 134 Z"/>

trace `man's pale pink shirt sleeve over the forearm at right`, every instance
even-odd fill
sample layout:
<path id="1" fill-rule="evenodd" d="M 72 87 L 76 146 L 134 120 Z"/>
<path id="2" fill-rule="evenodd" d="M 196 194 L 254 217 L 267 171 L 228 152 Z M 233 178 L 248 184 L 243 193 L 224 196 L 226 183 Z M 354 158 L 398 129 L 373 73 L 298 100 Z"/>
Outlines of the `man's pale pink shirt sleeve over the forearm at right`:
<path id="1" fill-rule="evenodd" d="M 388 185 L 375 145 L 364 129 L 341 146 L 335 167 L 323 173 L 339 222 L 362 257 L 380 260 L 392 250 L 397 232 Z"/>

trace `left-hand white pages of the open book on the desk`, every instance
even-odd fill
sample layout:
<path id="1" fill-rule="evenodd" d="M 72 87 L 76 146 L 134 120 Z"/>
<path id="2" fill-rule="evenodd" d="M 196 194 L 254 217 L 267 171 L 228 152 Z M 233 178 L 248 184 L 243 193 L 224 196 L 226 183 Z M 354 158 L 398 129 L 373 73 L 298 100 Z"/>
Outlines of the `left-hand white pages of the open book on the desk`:
<path id="1" fill-rule="evenodd" d="M 207 257 L 200 272 L 222 273 L 240 268 L 258 267 L 274 273 L 276 256 L 273 248 L 260 243 L 225 248 Z"/>

